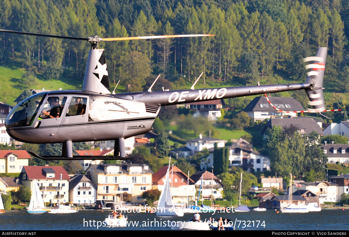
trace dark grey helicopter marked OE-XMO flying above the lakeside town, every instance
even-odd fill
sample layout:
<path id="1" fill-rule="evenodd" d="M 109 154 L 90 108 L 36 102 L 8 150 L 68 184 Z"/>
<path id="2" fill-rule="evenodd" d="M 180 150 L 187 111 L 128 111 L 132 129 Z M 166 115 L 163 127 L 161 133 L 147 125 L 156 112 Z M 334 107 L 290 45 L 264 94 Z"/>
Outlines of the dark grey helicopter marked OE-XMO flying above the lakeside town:
<path id="1" fill-rule="evenodd" d="M 305 90 L 309 97 L 310 112 L 324 112 L 324 79 L 327 48 L 320 47 L 315 57 L 305 58 L 310 71 L 305 83 L 252 85 L 195 89 L 194 82 L 187 90 L 147 91 L 114 93 L 110 90 L 104 49 L 98 42 L 116 40 L 159 39 L 177 37 L 214 36 L 211 34 L 136 36 L 124 38 L 88 38 L 47 35 L 10 30 L 1 32 L 84 40 L 91 43 L 82 90 L 44 91 L 24 99 L 8 114 L 5 126 L 14 139 L 27 143 L 62 143 L 61 156 L 31 155 L 43 160 L 84 160 L 73 156 L 72 142 L 115 140 L 113 156 L 88 156 L 88 159 L 127 160 L 125 139 L 147 133 L 161 106 L 262 95 L 283 91 Z M 333 111 L 333 110 L 332 110 Z"/>

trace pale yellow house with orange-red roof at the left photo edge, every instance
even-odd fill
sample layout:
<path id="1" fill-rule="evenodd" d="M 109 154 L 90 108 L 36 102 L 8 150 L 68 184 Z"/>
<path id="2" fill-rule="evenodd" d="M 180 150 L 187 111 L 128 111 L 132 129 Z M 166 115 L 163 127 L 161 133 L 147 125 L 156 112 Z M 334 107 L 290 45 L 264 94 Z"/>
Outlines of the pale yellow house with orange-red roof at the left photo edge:
<path id="1" fill-rule="evenodd" d="M 20 173 L 29 159 L 26 150 L 0 150 L 0 173 Z"/>

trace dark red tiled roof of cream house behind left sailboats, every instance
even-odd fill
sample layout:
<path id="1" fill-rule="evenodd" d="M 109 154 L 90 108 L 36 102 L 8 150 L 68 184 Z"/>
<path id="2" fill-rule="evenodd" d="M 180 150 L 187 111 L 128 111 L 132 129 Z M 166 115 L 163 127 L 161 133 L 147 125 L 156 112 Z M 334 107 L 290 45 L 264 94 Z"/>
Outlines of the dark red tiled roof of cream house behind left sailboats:
<path id="1" fill-rule="evenodd" d="M 51 168 L 55 172 L 54 178 L 46 178 L 45 172 L 43 169 Z M 62 174 L 62 179 L 69 180 L 68 172 L 63 169 L 62 166 L 24 166 L 25 173 L 27 173 L 28 179 L 59 179 Z"/>

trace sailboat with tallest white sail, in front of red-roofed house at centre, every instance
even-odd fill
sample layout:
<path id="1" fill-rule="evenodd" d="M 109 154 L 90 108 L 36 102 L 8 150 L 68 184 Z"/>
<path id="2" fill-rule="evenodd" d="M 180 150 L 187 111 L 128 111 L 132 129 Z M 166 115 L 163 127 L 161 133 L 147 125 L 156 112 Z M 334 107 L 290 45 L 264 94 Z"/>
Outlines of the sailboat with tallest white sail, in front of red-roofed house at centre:
<path id="1" fill-rule="evenodd" d="M 170 157 L 171 162 L 171 157 Z M 183 216 L 184 213 L 180 209 L 176 209 L 173 207 L 172 204 L 172 196 L 170 191 L 170 179 L 169 179 L 169 173 L 170 173 L 170 162 L 169 167 L 166 172 L 165 182 L 164 182 L 164 188 L 161 191 L 161 195 L 159 198 L 159 203 L 157 205 L 157 216 Z"/>

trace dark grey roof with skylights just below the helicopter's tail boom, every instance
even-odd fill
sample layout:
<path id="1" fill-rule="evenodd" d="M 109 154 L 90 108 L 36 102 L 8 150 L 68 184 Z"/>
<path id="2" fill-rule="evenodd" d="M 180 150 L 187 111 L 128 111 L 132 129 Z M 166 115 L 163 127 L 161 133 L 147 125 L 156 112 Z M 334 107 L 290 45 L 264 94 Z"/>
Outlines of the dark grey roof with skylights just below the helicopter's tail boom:
<path id="1" fill-rule="evenodd" d="M 282 111 L 304 111 L 303 106 L 292 97 L 268 97 L 270 102 L 278 109 Z M 261 107 L 261 105 L 263 107 Z M 265 96 L 255 97 L 250 104 L 243 109 L 243 111 L 265 111 L 265 112 L 274 112 L 276 111 L 273 108 Z"/>

